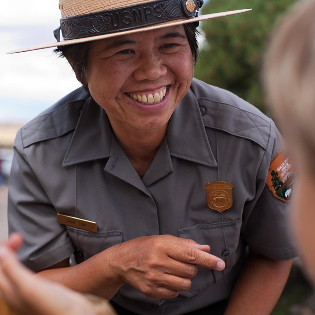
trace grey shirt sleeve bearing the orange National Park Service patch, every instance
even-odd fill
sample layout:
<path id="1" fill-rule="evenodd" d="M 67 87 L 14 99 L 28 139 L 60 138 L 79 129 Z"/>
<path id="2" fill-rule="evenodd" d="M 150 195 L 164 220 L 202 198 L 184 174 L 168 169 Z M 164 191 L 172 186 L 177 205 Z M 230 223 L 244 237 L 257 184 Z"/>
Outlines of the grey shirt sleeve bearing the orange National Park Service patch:
<path id="1" fill-rule="evenodd" d="M 289 222 L 291 204 L 277 198 L 266 184 L 270 164 L 283 148 L 283 138 L 271 121 L 269 143 L 256 178 L 257 194 L 245 204 L 242 226 L 250 249 L 275 260 L 297 256 Z"/>

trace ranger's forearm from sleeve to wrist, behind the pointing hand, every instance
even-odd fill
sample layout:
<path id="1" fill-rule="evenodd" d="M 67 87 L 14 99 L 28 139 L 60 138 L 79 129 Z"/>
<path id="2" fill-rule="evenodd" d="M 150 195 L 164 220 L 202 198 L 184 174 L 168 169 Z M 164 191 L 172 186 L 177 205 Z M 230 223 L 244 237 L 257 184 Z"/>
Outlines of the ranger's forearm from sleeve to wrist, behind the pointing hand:
<path id="1" fill-rule="evenodd" d="M 111 268 L 110 261 L 113 260 L 111 252 L 112 248 L 78 265 L 65 267 L 61 263 L 38 274 L 75 291 L 110 300 L 124 284 Z"/>

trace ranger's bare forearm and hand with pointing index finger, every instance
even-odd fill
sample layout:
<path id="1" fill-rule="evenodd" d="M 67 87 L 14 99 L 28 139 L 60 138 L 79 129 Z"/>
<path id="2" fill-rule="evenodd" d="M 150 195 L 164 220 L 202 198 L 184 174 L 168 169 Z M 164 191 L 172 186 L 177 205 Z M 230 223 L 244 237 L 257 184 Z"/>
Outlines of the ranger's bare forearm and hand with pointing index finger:
<path id="1" fill-rule="evenodd" d="M 171 235 L 138 237 L 115 245 L 73 267 L 61 264 L 40 274 L 76 291 L 106 299 L 123 284 L 147 297 L 173 299 L 187 291 L 191 278 L 203 266 L 222 271 L 221 258 L 209 253 L 208 245 Z"/>

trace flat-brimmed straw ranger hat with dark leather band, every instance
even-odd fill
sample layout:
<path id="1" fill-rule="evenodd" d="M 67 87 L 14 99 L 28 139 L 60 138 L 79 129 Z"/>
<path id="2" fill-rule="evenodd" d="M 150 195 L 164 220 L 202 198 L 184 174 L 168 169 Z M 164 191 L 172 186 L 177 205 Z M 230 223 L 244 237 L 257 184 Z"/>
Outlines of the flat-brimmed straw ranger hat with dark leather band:
<path id="1" fill-rule="evenodd" d="M 62 18 L 60 27 L 54 31 L 57 41 L 14 50 L 9 54 L 72 45 L 251 10 L 198 16 L 202 5 L 203 0 L 59 0 Z"/>

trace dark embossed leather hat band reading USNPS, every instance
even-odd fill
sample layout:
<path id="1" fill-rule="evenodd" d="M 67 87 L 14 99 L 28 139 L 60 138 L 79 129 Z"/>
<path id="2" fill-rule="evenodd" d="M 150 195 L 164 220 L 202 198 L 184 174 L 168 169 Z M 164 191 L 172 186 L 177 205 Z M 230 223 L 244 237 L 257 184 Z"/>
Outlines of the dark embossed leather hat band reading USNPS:
<path id="1" fill-rule="evenodd" d="M 203 0 L 152 1 L 62 18 L 60 28 L 64 40 L 122 32 L 187 17 L 196 17 L 198 16 L 197 11 L 202 5 Z M 59 36 L 55 37 L 59 41 Z"/>

